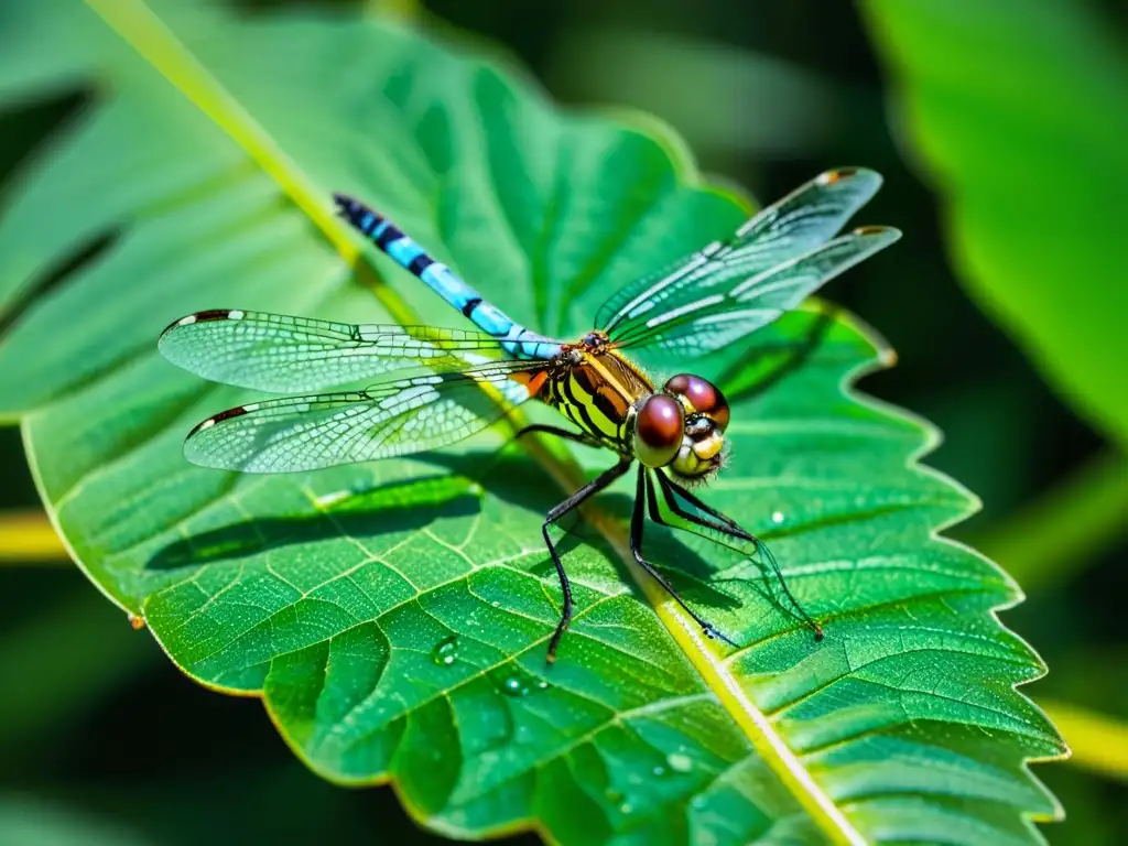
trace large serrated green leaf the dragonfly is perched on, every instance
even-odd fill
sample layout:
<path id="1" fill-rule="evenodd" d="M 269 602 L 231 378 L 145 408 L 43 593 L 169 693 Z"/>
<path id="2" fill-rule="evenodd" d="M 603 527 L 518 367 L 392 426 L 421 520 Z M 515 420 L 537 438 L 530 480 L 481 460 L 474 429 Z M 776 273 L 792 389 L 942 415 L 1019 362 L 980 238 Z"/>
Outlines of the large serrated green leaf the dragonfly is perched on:
<path id="1" fill-rule="evenodd" d="M 748 214 L 676 139 L 561 113 L 497 61 L 377 19 L 169 3 L 166 29 L 138 2 L 91 5 L 122 39 L 78 7 L 52 18 L 53 43 L 78 39 L 70 55 L 103 81 L 0 224 L 0 402 L 82 569 L 178 667 L 262 696 L 315 770 L 393 779 L 451 836 L 1039 841 L 1030 820 L 1059 811 L 1025 764 L 1063 744 L 1014 690 L 1043 672 L 993 614 L 1020 593 L 936 536 L 975 500 L 915 464 L 933 430 L 845 387 L 884 355 L 851 318 L 766 329 L 766 345 L 805 343 L 800 367 L 737 350 L 705 368 L 735 415 L 707 495 L 772 539 L 821 644 L 735 552 L 647 530 L 684 596 L 747 647 L 705 641 L 624 563 L 624 486 L 562 544 L 578 613 L 547 668 L 559 594 L 540 523 L 599 452 L 523 452 L 497 428 L 317 474 L 184 461 L 187 429 L 247 396 L 157 354 L 188 311 L 465 325 L 359 250 L 331 191 L 387 210 L 518 319 L 573 334 L 615 288 Z M 29 97 L 74 79 L 42 52 L 0 50 L 0 82 Z"/>

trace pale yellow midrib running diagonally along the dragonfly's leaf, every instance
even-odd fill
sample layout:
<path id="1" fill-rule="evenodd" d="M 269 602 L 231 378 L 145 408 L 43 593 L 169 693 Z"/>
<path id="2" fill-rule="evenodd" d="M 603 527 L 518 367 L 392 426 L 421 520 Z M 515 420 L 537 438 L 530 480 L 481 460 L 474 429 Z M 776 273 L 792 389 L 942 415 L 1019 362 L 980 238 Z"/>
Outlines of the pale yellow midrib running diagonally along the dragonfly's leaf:
<path id="1" fill-rule="evenodd" d="M 395 320 L 400 324 L 418 323 L 413 310 L 385 283 L 371 259 L 358 247 L 352 233 L 346 232 L 323 205 L 321 192 L 314 182 L 227 92 L 143 0 L 86 0 L 86 3 L 274 179 L 283 193 L 310 219 L 353 268 L 358 281 L 373 292 Z M 518 424 L 523 424 L 523 421 L 525 417 L 519 412 L 506 415 L 506 422 L 514 430 L 519 428 Z M 526 441 L 526 450 L 562 491 L 571 493 L 583 484 L 582 470 L 574 460 L 557 457 L 539 438 L 522 440 Z M 623 526 L 596 509 L 588 508 L 585 512 L 589 521 L 603 535 L 625 563 L 654 613 L 698 671 L 705 685 L 744 732 L 752 748 L 807 810 L 814 825 L 832 843 L 865 844 L 843 811 L 819 787 L 783 737 L 751 702 L 739 680 L 726 671 L 723 660 L 713 651 L 712 645 L 704 641 L 704 635 L 696 624 L 635 564 L 627 547 Z"/>

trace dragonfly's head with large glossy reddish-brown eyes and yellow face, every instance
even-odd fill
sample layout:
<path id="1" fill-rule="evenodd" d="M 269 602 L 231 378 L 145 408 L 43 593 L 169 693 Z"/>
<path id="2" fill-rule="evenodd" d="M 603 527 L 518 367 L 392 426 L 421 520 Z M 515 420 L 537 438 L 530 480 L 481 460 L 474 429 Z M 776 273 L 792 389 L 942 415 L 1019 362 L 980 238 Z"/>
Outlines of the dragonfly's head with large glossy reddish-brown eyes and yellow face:
<path id="1" fill-rule="evenodd" d="M 680 373 L 638 406 L 634 452 L 646 467 L 700 479 L 721 467 L 729 403 L 712 382 Z"/>

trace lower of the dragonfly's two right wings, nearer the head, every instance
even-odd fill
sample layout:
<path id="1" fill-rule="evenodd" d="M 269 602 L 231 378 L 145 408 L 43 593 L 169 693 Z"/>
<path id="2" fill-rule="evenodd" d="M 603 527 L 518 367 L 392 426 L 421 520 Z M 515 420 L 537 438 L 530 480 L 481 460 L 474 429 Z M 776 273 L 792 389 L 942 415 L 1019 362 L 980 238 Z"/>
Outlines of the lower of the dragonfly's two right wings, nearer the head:
<path id="1" fill-rule="evenodd" d="M 649 319 L 620 324 L 611 341 L 624 350 L 694 358 L 720 350 L 799 307 L 829 280 L 900 238 L 888 227 L 844 235 L 728 290 L 704 293 L 693 302 Z M 731 280 L 730 280 L 731 282 Z"/>

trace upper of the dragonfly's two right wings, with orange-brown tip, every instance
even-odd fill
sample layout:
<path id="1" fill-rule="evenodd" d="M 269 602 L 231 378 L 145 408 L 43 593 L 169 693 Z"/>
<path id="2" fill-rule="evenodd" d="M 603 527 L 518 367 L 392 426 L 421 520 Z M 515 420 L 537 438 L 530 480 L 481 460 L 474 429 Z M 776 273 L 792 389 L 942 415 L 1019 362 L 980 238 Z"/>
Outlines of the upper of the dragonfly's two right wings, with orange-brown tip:
<path id="1" fill-rule="evenodd" d="M 881 176 L 873 170 L 821 174 L 760 211 L 728 241 L 618 291 L 600 308 L 596 325 L 613 338 L 637 340 L 663 316 L 677 319 L 715 305 L 715 297 L 825 245 L 880 186 Z"/>

